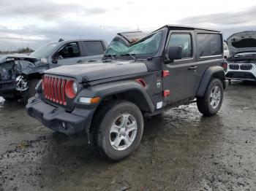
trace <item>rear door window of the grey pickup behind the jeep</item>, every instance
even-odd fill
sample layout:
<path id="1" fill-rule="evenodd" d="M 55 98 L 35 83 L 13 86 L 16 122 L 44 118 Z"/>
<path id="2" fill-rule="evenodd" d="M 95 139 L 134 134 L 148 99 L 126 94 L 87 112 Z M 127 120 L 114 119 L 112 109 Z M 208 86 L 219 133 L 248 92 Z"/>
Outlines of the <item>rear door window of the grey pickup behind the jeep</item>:
<path id="1" fill-rule="evenodd" d="M 83 42 L 86 48 L 86 55 L 102 55 L 104 53 L 103 44 L 100 41 Z"/>

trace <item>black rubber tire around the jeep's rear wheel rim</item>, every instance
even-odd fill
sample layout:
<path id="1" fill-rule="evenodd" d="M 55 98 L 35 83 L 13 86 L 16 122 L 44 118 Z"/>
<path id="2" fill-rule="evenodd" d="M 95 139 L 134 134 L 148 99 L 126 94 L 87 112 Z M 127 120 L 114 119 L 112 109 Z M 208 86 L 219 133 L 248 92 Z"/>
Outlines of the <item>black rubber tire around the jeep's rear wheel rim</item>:
<path id="1" fill-rule="evenodd" d="M 219 101 L 219 105 L 217 108 L 213 108 L 210 104 L 210 96 L 211 96 L 211 91 L 214 89 L 214 87 L 219 87 L 220 93 L 221 93 L 221 98 Z M 203 97 L 197 97 L 197 108 L 201 114 L 204 114 L 206 116 L 212 116 L 214 114 L 217 114 L 219 112 L 220 107 L 222 106 L 222 101 L 223 101 L 223 85 L 222 82 L 214 78 L 211 80 L 211 82 L 208 84 L 208 87 L 206 89 L 205 95 Z"/>

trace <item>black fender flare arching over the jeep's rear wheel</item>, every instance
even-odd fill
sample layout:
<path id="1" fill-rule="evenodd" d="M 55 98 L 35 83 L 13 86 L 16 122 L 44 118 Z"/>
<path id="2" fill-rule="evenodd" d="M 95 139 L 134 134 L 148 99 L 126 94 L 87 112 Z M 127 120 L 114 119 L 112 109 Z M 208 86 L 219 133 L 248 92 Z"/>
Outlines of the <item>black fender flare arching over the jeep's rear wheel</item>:
<path id="1" fill-rule="evenodd" d="M 197 90 L 196 97 L 202 97 L 205 92 L 206 88 L 208 87 L 209 82 L 211 82 L 212 78 L 218 78 L 222 81 L 223 88 L 225 89 L 225 71 L 221 66 L 211 66 L 203 74 L 203 78 L 201 79 L 200 85 Z"/>

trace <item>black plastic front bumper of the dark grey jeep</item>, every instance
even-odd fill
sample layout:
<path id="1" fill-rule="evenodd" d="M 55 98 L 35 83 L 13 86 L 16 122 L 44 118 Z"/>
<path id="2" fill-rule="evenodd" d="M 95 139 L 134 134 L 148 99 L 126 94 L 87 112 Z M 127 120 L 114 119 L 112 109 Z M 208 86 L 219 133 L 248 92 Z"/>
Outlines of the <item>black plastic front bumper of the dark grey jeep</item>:
<path id="1" fill-rule="evenodd" d="M 46 104 L 40 98 L 29 98 L 26 112 L 51 130 L 65 134 L 81 133 L 88 129 L 94 109 L 74 109 L 66 112 L 62 107 Z"/>

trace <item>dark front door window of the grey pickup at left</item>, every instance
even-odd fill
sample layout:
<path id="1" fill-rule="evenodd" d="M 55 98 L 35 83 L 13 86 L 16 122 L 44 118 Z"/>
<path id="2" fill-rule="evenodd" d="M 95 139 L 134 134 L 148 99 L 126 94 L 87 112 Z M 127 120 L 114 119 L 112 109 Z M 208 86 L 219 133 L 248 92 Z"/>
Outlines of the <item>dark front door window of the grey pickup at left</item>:
<path id="1" fill-rule="evenodd" d="M 59 50 L 59 59 L 74 58 L 80 56 L 80 49 L 78 42 L 71 42 L 66 44 L 61 50 Z"/>

